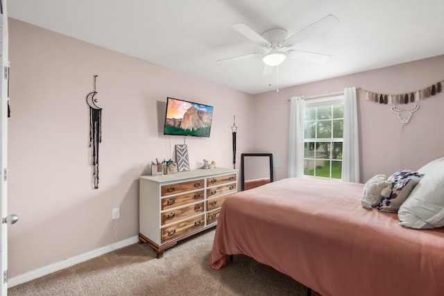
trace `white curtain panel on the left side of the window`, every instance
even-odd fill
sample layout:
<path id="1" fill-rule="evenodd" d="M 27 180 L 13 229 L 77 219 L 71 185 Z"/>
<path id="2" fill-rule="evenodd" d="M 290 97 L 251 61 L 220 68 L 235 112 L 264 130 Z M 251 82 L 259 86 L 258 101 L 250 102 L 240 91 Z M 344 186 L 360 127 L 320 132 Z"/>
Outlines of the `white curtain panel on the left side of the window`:
<path id="1" fill-rule="evenodd" d="M 304 109 L 303 96 L 290 101 L 289 177 L 304 175 Z"/>

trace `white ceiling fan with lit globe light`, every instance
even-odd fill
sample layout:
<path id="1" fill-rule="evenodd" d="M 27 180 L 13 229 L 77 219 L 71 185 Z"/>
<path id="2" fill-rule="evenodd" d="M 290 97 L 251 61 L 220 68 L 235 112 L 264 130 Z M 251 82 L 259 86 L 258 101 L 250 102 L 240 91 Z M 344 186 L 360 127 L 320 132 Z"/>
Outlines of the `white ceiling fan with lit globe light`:
<path id="1" fill-rule="evenodd" d="M 235 31 L 241 33 L 249 40 L 259 44 L 263 47 L 263 53 L 248 53 L 246 55 L 239 55 L 232 58 L 225 58 L 217 62 L 244 60 L 262 56 L 262 61 L 265 64 L 264 76 L 270 75 L 274 71 L 274 67 L 278 66 L 288 58 L 296 58 L 299 60 L 307 60 L 309 62 L 323 63 L 330 59 L 330 55 L 322 53 L 312 53 L 309 51 L 298 51 L 293 49 L 294 46 L 300 42 L 307 40 L 316 35 L 320 35 L 326 31 L 330 31 L 334 26 L 339 24 L 339 19 L 334 15 L 327 15 L 319 19 L 314 24 L 307 26 L 298 33 L 287 37 L 287 30 L 283 28 L 273 28 L 259 35 L 252 28 L 244 23 L 232 24 L 230 27 Z"/>

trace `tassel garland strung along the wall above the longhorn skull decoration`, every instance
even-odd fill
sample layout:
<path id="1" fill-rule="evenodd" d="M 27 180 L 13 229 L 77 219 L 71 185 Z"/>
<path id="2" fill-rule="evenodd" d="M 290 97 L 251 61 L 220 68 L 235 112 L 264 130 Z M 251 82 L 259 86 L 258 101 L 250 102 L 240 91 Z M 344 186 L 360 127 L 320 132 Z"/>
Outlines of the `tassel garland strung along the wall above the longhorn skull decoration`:
<path id="1" fill-rule="evenodd" d="M 431 85 L 425 89 L 418 89 L 415 92 L 409 92 L 406 94 L 376 94 L 375 92 L 370 92 L 366 89 L 360 90 L 366 92 L 366 101 L 373 101 L 386 105 L 400 105 L 418 102 L 424 100 L 425 98 L 429 98 L 430 96 L 434 96 L 437 93 L 440 93 L 441 84 L 443 82 L 444 81 L 437 82 L 436 84 Z"/>

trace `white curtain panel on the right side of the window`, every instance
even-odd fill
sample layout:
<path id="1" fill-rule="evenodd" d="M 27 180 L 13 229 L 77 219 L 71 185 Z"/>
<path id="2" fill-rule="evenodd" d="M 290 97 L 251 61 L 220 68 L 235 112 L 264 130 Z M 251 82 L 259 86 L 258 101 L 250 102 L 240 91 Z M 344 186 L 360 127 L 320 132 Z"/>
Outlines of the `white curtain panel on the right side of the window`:
<path id="1" fill-rule="evenodd" d="M 356 88 L 344 89 L 342 180 L 359 183 L 359 134 Z"/>

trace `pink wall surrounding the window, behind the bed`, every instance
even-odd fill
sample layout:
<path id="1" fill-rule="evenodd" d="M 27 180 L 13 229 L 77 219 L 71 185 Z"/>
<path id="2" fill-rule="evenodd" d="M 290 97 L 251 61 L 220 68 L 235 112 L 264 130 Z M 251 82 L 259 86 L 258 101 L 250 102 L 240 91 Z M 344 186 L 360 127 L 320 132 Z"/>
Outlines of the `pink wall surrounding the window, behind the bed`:
<path id="1" fill-rule="evenodd" d="M 443 80 L 444 55 L 392 67 L 312 82 L 255 96 L 254 146 L 282 157 L 275 177 L 287 177 L 289 102 L 292 96 L 315 96 L 361 87 L 382 94 L 403 94 L 424 89 Z M 444 156 L 444 92 L 418 102 L 408 125 L 402 125 L 391 105 L 365 100 L 359 93 L 361 182 L 373 175 L 391 175 L 402 168 L 416 170 L 432 159 Z M 413 104 L 398 107 L 413 107 Z"/>

